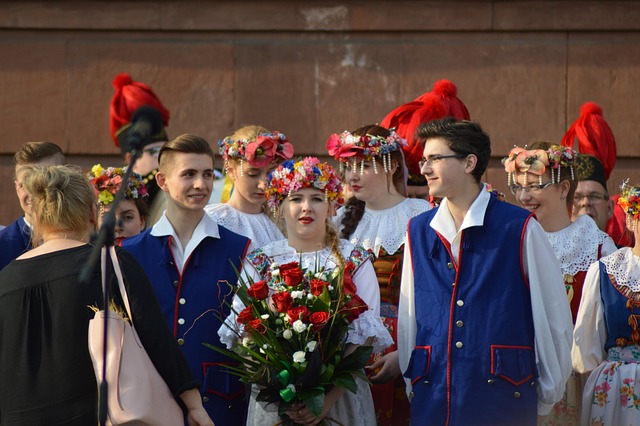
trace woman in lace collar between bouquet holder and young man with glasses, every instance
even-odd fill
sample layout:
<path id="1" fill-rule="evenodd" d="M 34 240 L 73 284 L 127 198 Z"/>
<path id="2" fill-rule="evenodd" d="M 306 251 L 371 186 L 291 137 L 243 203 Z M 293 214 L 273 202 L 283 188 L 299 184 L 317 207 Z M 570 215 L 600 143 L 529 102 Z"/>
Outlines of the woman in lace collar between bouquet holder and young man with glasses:
<path id="1" fill-rule="evenodd" d="M 431 209 L 426 200 L 407 198 L 406 145 L 394 131 L 377 125 L 333 134 L 329 154 L 345 168 L 354 196 L 338 210 L 340 236 L 373 252 L 383 322 L 396 340 L 404 240 L 409 220 Z M 374 354 L 370 380 L 378 425 L 408 425 L 409 401 L 395 344 Z"/>

